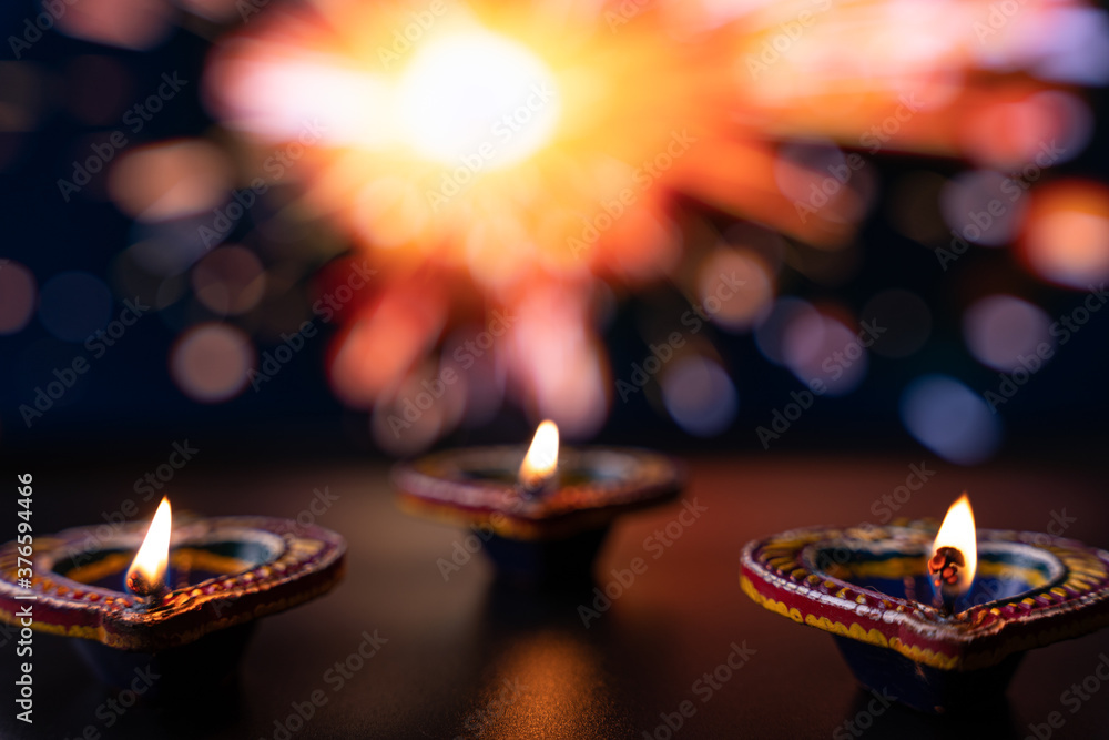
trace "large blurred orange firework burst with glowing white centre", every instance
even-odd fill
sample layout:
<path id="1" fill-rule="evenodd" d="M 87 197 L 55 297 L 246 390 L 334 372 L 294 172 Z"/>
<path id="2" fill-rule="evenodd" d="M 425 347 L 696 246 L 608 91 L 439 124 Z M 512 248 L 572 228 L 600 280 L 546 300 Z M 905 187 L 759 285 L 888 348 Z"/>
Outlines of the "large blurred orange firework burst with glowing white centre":
<path id="1" fill-rule="evenodd" d="M 330 378 L 395 449 L 506 392 L 571 437 L 594 432 L 611 290 L 670 278 L 702 305 L 731 276 L 741 300 L 709 313 L 749 330 L 781 262 L 759 242 L 851 244 L 875 189 L 862 153 L 1010 172 L 1050 144 L 1055 164 L 1089 133 L 1059 83 L 1105 74 L 1089 31 L 1103 18 L 1039 0 L 309 0 L 247 20 L 214 51 L 211 104 L 262 148 L 319 132 L 301 206 L 379 271 Z M 1109 223 L 1101 190 L 1051 197 L 1041 221 L 1097 213 L 1087 242 Z M 724 240 L 688 201 L 757 227 Z M 1025 243 L 1066 283 L 1101 252 L 1052 246 L 1042 232 L 1060 227 Z"/>

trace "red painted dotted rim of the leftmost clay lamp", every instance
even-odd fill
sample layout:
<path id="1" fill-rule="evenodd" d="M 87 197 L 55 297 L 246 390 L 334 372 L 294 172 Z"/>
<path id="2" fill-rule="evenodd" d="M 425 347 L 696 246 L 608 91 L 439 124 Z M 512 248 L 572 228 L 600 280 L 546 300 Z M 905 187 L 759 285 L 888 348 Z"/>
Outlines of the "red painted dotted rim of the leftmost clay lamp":
<path id="1" fill-rule="evenodd" d="M 98 540 L 96 551 L 138 549 L 146 524 L 136 523 Z M 94 528 L 77 527 L 35 538 L 34 586 L 16 582 L 16 543 L 0 547 L 0 621 L 18 625 L 16 612 L 33 605 L 34 629 L 102 642 L 135 652 L 189 645 L 212 632 L 291 609 L 342 580 L 346 543 L 323 527 L 302 527 L 272 517 L 215 517 L 174 527 L 172 547 L 205 543 L 261 546 L 264 561 L 169 591 L 156 606 L 122 590 L 79 582 L 54 568 L 90 551 Z M 123 566 L 123 570 L 126 566 Z M 122 586 L 123 572 L 120 572 Z M 35 600 L 17 597 L 35 596 Z"/>

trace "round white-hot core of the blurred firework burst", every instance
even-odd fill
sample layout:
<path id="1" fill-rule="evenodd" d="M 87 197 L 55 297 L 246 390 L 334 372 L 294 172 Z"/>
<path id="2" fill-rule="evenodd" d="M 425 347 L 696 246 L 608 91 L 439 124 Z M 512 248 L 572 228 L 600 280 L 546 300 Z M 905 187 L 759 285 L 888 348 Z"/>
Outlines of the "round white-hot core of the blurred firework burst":
<path id="1" fill-rule="evenodd" d="M 400 79 L 405 138 L 421 156 L 502 168 L 548 143 L 559 118 L 554 77 L 522 44 L 487 31 L 420 48 Z"/>

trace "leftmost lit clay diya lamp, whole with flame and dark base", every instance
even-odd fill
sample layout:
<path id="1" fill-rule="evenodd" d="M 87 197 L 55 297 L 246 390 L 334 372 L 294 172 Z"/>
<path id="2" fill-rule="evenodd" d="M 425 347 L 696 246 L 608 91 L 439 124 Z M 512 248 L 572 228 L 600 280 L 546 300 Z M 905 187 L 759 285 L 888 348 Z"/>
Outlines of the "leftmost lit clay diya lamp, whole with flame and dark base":
<path id="1" fill-rule="evenodd" d="M 132 525 L 108 537 L 95 527 L 35 537 L 30 586 L 17 578 L 16 543 L 4 545 L 0 620 L 19 625 L 30 606 L 32 628 L 75 638 L 105 682 L 126 686 L 149 667 L 161 678 L 147 696 L 194 692 L 234 675 L 261 617 L 330 590 L 345 557 L 335 533 L 285 519 L 174 527 L 163 499 L 145 536 Z"/>

